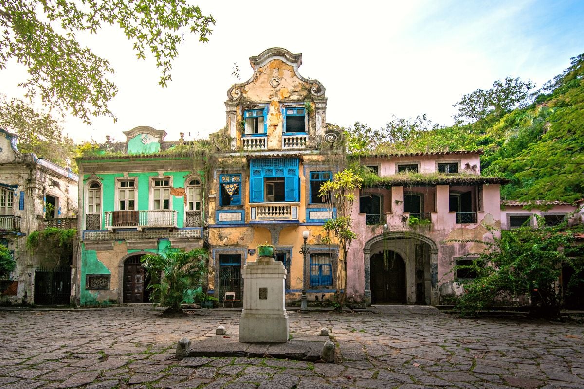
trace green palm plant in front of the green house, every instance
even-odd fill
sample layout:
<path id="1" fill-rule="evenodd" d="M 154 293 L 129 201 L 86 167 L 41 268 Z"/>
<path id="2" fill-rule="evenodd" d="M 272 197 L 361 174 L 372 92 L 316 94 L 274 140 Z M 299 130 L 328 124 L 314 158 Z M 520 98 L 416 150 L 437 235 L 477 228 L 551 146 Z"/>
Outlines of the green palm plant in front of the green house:
<path id="1" fill-rule="evenodd" d="M 162 316 L 183 314 L 180 304 L 187 290 L 197 289 L 203 283 L 207 257 L 208 253 L 204 248 L 185 252 L 172 247 L 159 254 L 142 256 L 142 268 L 150 275 L 150 300 L 166 307 Z"/>

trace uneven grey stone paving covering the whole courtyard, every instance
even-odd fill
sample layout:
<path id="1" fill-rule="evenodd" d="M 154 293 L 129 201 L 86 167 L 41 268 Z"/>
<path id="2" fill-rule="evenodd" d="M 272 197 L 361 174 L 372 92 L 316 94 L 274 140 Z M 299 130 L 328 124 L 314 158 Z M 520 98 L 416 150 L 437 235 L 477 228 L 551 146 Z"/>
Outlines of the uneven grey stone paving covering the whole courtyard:
<path id="1" fill-rule="evenodd" d="M 245 346 L 235 342 L 241 311 L 159 314 L 149 307 L 0 310 L 0 388 L 584 388 L 582 325 L 460 320 L 420 306 L 294 311 L 290 342 Z M 218 325 L 229 338 L 216 337 Z M 283 359 L 310 343 L 320 355 L 322 327 L 331 330 L 339 364 Z M 175 360 L 183 337 L 207 351 Z M 229 348 L 242 356 L 213 356 Z M 246 356 L 251 351 L 261 358 Z"/>

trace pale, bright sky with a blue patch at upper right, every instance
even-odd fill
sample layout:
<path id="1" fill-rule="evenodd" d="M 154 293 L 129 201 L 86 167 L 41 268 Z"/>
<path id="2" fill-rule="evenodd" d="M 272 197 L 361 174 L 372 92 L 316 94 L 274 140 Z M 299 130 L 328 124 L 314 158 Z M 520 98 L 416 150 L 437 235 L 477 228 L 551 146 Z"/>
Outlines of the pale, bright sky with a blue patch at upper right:
<path id="1" fill-rule="evenodd" d="M 107 28 L 82 43 L 116 69 L 119 94 L 110 102 L 118 121 L 85 125 L 67 117 L 75 141 L 149 125 L 167 140 L 206 138 L 225 126 L 227 90 L 252 75 L 249 57 L 269 47 L 303 54 L 299 72 L 326 88 L 326 121 L 382 127 L 391 115 L 426 113 L 452 124 L 452 105 L 510 75 L 537 86 L 584 52 L 584 1 L 194 1 L 217 24 L 210 41 L 185 35 L 168 87 L 158 86 L 154 61 L 138 61 L 120 30 Z M 22 71 L 21 71 L 22 72 Z M 18 69 L 0 72 L 2 92 L 16 89 Z"/>

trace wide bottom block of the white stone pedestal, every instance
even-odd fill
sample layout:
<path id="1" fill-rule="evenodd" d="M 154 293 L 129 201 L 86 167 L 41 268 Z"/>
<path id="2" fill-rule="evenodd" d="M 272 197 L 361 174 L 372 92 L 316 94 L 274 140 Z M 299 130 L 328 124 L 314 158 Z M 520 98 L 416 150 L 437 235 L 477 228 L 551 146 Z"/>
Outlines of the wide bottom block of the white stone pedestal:
<path id="1" fill-rule="evenodd" d="M 288 315 L 239 318 L 239 342 L 286 343 L 289 333 Z"/>

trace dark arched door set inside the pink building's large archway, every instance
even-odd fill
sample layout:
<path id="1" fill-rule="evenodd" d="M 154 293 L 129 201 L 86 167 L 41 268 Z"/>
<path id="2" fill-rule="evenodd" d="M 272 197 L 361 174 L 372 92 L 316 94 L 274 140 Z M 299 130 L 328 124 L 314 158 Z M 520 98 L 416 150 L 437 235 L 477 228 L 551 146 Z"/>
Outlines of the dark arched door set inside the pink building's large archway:
<path id="1" fill-rule="evenodd" d="M 371 255 L 371 303 L 406 303 L 405 262 L 395 251 Z"/>

